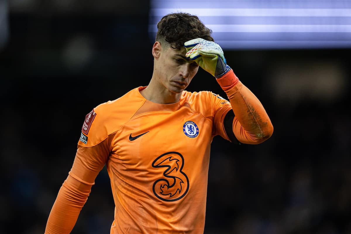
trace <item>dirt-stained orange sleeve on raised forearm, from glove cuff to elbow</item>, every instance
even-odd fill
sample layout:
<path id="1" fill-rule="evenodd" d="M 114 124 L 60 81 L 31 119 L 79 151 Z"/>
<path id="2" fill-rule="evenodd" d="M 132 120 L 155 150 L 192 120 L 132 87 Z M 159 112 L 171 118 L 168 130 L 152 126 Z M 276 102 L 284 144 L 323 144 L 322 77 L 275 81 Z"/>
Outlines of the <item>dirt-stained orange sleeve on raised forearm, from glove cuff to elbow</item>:
<path id="1" fill-rule="evenodd" d="M 233 132 L 241 143 L 259 144 L 273 133 L 273 125 L 258 98 L 230 70 L 217 79 L 234 112 Z"/>

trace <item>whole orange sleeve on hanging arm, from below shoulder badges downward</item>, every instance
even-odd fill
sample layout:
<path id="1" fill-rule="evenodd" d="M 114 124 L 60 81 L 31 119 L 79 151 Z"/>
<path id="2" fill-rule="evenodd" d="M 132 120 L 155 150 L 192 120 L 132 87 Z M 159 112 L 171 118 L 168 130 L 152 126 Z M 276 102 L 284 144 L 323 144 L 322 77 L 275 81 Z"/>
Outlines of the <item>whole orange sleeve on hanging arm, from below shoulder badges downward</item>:
<path id="1" fill-rule="evenodd" d="M 68 234 L 72 231 L 94 180 L 106 163 L 108 150 L 104 143 L 106 141 L 93 147 L 78 145 L 72 169 L 48 217 L 45 234 Z"/>

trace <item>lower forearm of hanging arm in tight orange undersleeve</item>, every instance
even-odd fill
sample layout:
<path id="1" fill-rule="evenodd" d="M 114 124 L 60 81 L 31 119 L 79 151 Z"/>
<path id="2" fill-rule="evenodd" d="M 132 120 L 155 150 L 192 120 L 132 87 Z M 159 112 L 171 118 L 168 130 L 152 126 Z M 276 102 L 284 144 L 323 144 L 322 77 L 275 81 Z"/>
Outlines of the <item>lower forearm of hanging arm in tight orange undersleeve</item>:
<path id="1" fill-rule="evenodd" d="M 45 234 L 68 234 L 72 231 L 90 194 L 91 186 L 68 175 L 51 209 Z"/>

